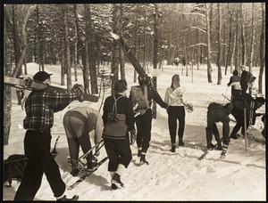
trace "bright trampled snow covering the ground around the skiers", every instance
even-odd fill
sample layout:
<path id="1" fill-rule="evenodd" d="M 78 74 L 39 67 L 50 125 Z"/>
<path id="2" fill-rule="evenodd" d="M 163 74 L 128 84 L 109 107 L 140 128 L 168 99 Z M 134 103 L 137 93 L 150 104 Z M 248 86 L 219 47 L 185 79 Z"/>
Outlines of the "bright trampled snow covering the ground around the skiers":
<path id="1" fill-rule="evenodd" d="M 29 75 L 38 71 L 38 64 L 36 63 L 29 63 L 27 67 Z M 175 153 L 169 151 L 171 141 L 167 125 L 167 113 L 166 110 L 157 106 L 157 118 L 153 119 L 152 139 L 147 151 L 149 165 L 138 166 L 138 150 L 136 144 L 134 144 L 131 146 L 133 159 L 121 177 L 122 183 L 125 184 L 124 188 L 116 191 L 110 190 L 111 180 L 107 171 L 108 162 L 106 161 L 103 166 L 98 168 L 96 173 L 88 176 L 75 189 L 66 191 L 66 194 L 68 196 L 78 194 L 80 196 L 79 200 L 266 200 L 264 143 L 252 140 L 246 151 L 243 139 L 231 139 L 226 158 L 220 159 L 221 151 L 214 150 L 210 151 L 204 159 L 197 159 L 206 149 L 205 125 L 208 104 L 210 102 L 226 103 L 227 101 L 223 99 L 222 93 L 230 98 L 230 87 L 227 87 L 231 76 L 230 71 L 225 76 L 222 68 L 222 85 L 216 85 L 217 68 L 215 66 L 213 68 L 213 83 L 210 84 L 207 82 L 206 66 L 201 66 L 198 70 L 197 67 L 194 67 L 193 78 L 191 69 L 188 71 L 188 77 L 185 74 L 180 75 L 180 85 L 186 90 L 185 98 L 188 102 L 192 102 L 194 106 L 193 112 L 186 113 L 185 147 L 177 147 Z M 53 73 L 52 82 L 54 85 L 60 85 L 60 67 L 46 66 L 45 69 L 47 72 Z M 180 69 L 181 64 L 179 68 L 172 65 L 163 66 L 160 76 L 157 77 L 157 89 L 162 98 L 165 89 L 171 85 L 172 76 L 176 73 L 180 74 Z M 81 84 L 82 76 L 80 69 L 78 70 L 79 83 Z M 127 64 L 126 78 L 129 87 L 137 85 L 132 82 L 133 71 L 132 66 Z M 150 72 L 152 72 L 152 69 L 150 69 Z M 257 68 L 253 68 L 253 74 L 258 79 Z M 75 82 L 72 81 L 72 84 L 74 85 Z M 257 85 L 257 81 L 255 81 L 255 85 Z M 105 93 L 105 97 L 109 93 L 110 91 Z M 23 153 L 25 130 L 21 125 L 25 112 L 21 110 L 21 106 L 16 104 L 15 98 L 13 94 L 12 126 L 9 144 L 4 145 L 4 158 L 11 154 Z M 63 115 L 67 110 L 78 105 L 99 110 L 101 99 L 97 103 L 71 102 L 65 110 L 54 115 L 52 148 L 55 139 L 60 135 L 57 144 L 58 155 L 55 160 L 67 186 L 74 183 L 78 178 L 69 174 L 71 167 L 67 162 L 69 150 L 63 129 Z M 265 107 L 258 112 L 265 112 Z M 222 134 L 222 125 L 219 123 L 217 126 Z M 234 122 L 231 121 L 230 130 L 233 126 Z M 262 137 L 259 131 L 263 126 L 260 118 L 257 118 L 255 124 L 257 130 L 254 133 L 259 137 Z M 90 134 L 90 137 L 92 139 L 92 134 Z M 98 160 L 105 156 L 105 149 L 102 148 Z M 45 175 L 43 179 L 35 200 L 54 200 Z M 4 187 L 5 200 L 13 200 L 19 184 L 20 182 L 13 180 L 12 187 Z"/>

